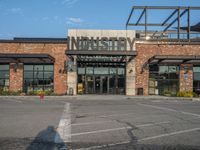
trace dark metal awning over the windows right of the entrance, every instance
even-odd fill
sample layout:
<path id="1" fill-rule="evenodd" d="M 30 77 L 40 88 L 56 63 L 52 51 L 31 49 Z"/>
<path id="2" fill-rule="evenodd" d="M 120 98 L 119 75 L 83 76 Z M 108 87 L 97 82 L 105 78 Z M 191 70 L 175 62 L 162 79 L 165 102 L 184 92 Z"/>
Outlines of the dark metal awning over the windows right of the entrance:
<path id="1" fill-rule="evenodd" d="M 143 68 L 147 67 L 149 64 L 200 64 L 200 55 L 155 55 L 151 57 L 144 65 Z"/>

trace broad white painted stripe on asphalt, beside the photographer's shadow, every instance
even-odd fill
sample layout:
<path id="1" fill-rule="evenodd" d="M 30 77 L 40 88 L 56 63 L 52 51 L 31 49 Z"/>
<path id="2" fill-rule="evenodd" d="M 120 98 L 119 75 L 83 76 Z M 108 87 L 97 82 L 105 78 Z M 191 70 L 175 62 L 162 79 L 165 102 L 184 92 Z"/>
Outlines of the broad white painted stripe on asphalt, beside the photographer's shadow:
<path id="1" fill-rule="evenodd" d="M 71 108 L 70 103 L 66 103 L 61 116 L 57 134 L 54 138 L 55 143 L 71 142 Z"/>

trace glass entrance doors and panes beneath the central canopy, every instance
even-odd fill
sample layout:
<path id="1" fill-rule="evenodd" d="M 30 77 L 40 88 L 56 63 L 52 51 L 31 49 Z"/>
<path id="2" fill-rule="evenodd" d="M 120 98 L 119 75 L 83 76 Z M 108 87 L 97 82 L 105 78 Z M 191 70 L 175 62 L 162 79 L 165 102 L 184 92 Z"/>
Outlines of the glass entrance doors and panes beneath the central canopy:
<path id="1" fill-rule="evenodd" d="M 78 94 L 125 94 L 125 66 L 82 64 L 77 89 Z"/>

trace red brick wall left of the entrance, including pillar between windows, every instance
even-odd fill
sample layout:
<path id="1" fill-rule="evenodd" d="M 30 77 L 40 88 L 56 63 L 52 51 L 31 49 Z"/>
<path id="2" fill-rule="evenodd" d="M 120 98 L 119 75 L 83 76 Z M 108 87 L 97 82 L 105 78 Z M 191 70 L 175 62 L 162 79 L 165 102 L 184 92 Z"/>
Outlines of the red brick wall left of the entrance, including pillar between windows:
<path id="1" fill-rule="evenodd" d="M 54 63 L 54 92 L 57 94 L 65 94 L 67 91 L 67 74 L 59 73 L 59 70 L 64 69 L 64 61 L 67 59 L 65 50 L 67 44 L 54 43 L 0 43 L 0 53 L 26 53 L 26 54 L 49 54 L 55 58 Z M 21 90 L 23 74 L 19 72 L 10 73 L 10 90 Z M 13 79 L 19 80 L 19 84 Z M 18 84 L 18 85 L 17 85 Z"/>

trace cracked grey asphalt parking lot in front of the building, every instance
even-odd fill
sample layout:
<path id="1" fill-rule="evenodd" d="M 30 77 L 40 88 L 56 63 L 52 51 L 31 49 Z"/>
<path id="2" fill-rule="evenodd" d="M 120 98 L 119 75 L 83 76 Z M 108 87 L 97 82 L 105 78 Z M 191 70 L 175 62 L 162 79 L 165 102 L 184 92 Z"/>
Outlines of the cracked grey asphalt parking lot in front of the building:
<path id="1" fill-rule="evenodd" d="M 200 102 L 0 97 L 0 149 L 200 149 Z"/>

